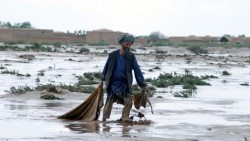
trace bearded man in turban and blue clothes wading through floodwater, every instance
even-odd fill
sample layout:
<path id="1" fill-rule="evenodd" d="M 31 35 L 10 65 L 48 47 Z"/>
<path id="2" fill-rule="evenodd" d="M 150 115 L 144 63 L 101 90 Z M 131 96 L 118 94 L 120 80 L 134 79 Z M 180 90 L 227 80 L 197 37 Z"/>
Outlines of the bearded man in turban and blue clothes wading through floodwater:
<path id="1" fill-rule="evenodd" d="M 124 105 L 120 120 L 123 122 L 130 121 L 129 114 L 132 108 L 132 69 L 134 70 L 137 84 L 141 88 L 147 86 L 135 55 L 130 52 L 130 47 L 134 41 L 135 38 L 133 35 L 122 35 L 118 39 L 121 49 L 111 52 L 104 66 L 101 83 L 103 81 L 106 82 L 108 96 L 103 110 L 103 121 L 106 121 L 110 117 L 114 102 Z"/>

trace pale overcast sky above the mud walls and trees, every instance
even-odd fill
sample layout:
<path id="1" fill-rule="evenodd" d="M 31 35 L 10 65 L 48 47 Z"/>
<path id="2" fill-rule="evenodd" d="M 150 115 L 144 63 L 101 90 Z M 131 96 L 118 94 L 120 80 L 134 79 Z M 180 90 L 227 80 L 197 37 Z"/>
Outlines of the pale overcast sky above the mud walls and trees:
<path id="1" fill-rule="evenodd" d="M 0 0 L 0 21 L 62 32 L 250 36 L 250 0 Z"/>

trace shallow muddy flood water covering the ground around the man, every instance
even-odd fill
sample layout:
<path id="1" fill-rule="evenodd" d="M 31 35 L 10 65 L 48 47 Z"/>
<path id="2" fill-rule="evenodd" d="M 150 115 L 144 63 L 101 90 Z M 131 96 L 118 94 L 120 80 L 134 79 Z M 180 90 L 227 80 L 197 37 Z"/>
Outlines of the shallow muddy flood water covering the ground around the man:
<path id="1" fill-rule="evenodd" d="M 168 50 L 166 55 L 172 56 L 156 59 L 152 48 L 136 50 L 145 78 L 157 77 L 160 73 L 183 74 L 188 69 L 193 75 L 214 75 L 218 79 L 206 80 L 211 86 L 197 86 L 191 98 L 173 96 L 181 86 L 158 88 L 150 98 L 154 114 L 150 108 L 141 110 L 147 120 L 153 121 L 151 125 L 59 120 L 57 116 L 78 106 L 88 94 L 64 94 L 61 97 L 65 100 L 42 100 L 39 94 L 11 95 L 6 91 L 11 86 L 74 84 L 77 75 L 102 71 L 108 56 L 99 54 L 103 48 L 91 48 L 88 54 L 1 51 L 1 66 L 31 76 L 0 74 L 0 140 L 250 140 L 250 87 L 240 85 L 250 82 L 250 55 L 243 53 L 240 57 L 216 52 L 206 57 L 188 56 L 192 60 L 187 62 L 186 58 L 178 56 L 188 53 L 184 49 L 161 49 Z M 23 54 L 32 54 L 35 59 L 20 58 Z M 237 61 L 237 57 L 241 59 Z M 149 72 L 156 66 L 161 69 Z M 41 70 L 45 70 L 44 76 L 38 76 Z M 223 76 L 224 70 L 231 75 Z M 109 120 L 119 119 L 121 110 L 121 105 L 114 104 Z M 136 115 L 135 108 L 131 115 Z"/>

